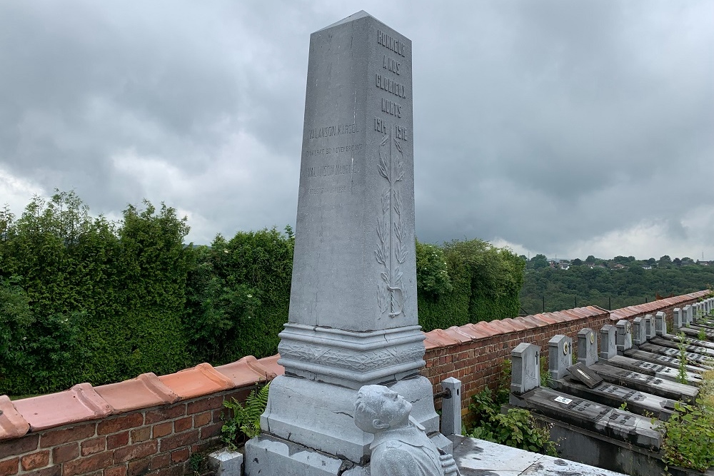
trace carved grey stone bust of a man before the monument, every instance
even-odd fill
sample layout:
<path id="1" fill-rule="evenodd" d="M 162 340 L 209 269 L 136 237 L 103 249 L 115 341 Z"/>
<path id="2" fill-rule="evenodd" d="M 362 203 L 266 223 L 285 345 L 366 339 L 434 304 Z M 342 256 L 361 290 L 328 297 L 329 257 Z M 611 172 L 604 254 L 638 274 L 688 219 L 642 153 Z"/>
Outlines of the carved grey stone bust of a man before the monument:
<path id="1" fill-rule="evenodd" d="M 357 393 L 355 425 L 374 435 L 371 476 L 458 475 L 453 457 L 439 452 L 410 412 L 411 403 L 383 385 L 365 385 Z"/>

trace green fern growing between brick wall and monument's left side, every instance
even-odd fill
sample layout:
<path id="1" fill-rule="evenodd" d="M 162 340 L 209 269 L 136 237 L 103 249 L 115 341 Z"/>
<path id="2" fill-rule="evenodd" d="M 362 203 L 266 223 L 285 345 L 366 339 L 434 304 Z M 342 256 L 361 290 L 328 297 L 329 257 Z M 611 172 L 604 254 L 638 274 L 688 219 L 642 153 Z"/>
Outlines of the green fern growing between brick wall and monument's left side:
<path id="1" fill-rule="evenodd" d="M 268 405 L 269 387 L 266 384 L 257 393 L 251 390 L 245 406 L 235 398 L 232 402 L 223 402 L 223 406 L 233 412 L 233 416 L 221 428 L 221 439 L 229 449 L 235 451 L 246 441 L 261 434 L 261 415 Z"/>

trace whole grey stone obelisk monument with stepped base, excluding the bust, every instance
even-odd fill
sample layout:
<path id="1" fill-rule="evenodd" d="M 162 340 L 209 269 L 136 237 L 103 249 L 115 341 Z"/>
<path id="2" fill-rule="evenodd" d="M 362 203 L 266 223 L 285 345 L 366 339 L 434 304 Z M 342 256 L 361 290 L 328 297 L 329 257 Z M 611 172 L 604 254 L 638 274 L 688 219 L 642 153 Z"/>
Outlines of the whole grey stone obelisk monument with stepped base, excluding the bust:
<path id="1" fill-rule="evenodd" d="M 366 475 L 357 390 L 390 387 L 438 447 L 416 308 L 411 41 L 364 11 L 310 39 L 285 375 L 246 474 Z"/>

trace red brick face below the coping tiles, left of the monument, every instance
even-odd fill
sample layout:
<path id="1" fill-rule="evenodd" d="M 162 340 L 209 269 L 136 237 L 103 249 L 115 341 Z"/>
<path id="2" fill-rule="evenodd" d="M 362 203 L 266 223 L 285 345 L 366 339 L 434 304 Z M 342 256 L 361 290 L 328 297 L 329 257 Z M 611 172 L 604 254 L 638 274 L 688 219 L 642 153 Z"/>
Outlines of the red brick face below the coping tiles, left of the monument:
<path id="1" fill-rule="evenodd" d="M 228 390 L 5 440 L 0 475 L 188 475 L 191 455 L 221 444 L 223 400 L 247 393 Z"/>

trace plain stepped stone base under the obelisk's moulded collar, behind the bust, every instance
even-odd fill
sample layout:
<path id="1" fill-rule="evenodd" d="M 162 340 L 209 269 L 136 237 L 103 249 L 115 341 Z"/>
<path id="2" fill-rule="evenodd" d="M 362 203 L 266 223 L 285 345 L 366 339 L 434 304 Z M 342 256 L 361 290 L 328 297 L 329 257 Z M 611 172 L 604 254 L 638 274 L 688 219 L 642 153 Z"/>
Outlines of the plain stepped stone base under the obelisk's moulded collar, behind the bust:
<path id="1" fill-rule="evenodd" d="M 386 386 L 411 402 L 413 420 L 426 429 L 436 447 L 451 453 L 451 441 L 439 432 L 431 382 L 414 375 Z M 356 396 L 357 390 L 351 388 L 276 377 L 261 416 L 263 434 L 246 443 L 246 475 L 363 474 L 346 471 L 368 467 L 373 438 L 354 424 Z"/>

